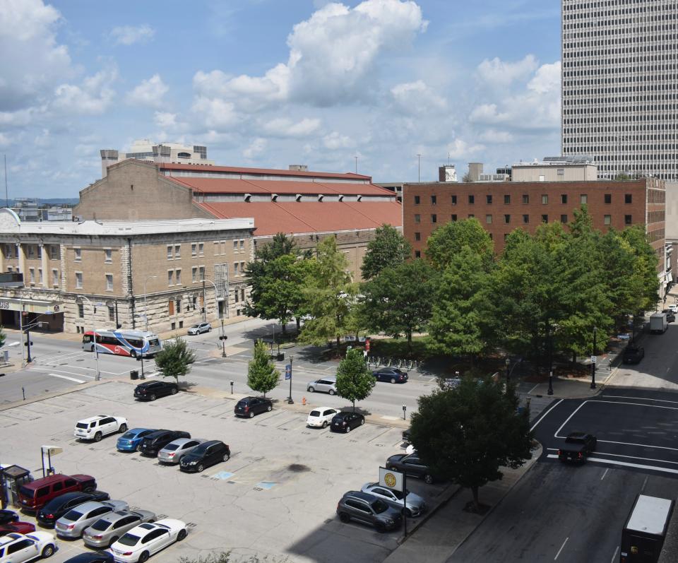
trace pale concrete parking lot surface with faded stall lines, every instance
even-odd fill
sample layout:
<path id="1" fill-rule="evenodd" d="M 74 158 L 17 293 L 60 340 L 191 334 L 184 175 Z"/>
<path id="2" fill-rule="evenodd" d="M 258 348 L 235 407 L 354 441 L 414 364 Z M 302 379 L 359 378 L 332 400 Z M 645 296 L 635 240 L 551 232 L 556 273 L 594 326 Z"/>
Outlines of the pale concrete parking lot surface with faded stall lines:
<path id="1" fill-rule="evenodd" d="M 234 417 L 230 400 L 182 392 L 138 403 L 132 390 L 114 381 L 2 411 L 2 463 L 28 468 L 37 478 L 40 446 L 61 446 L 63 453 L 52 458 L 58 473 L 93 475 L 112 499 L 189 523 L 188 538 L 155 555 L 156 561 L 233 550 L 291 561 L 372 562 L 396 547 L 402 531 L 379 534 L 343 524 L 335 509 L 343 492 L 378 480 L 386 457 L 403 451 L 400 428 L 366 424 L 334 434 L 307 428 L 305 414 L 283 408 L 244 420 Z M 117 434 L 98 443 L 73 439 L 76 420 L 97 414 L 124 416 L 130 428 L 221 439 L 232 457 L 202 474 L 186 474 L 155 458 L 118 452 Z M 431 506 L 445 487 L 411 479 L 408 488 Z M 52 560 L 63 562 L 87 549 L 81 540 L 59 540 Z"/>

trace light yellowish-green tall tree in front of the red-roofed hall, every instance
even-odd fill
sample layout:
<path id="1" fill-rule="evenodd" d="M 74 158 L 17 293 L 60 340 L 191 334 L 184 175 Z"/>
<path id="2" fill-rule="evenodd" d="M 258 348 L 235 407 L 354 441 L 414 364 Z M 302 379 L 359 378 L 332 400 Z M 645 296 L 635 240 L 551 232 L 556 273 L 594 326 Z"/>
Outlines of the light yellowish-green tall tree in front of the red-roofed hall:
<path id="1" fill-rule="evenodd" d="M 302 342 L 323 345 L 336 340 L 339 353 L 341 337 L 353 328 L 351 310 L 357 295 L 357 285 L 352 283 L 348 267 L 335 237 L 327 237 L 318 244 L 304 288 L 311 319 L 304 323 L 299 335 Z"/>

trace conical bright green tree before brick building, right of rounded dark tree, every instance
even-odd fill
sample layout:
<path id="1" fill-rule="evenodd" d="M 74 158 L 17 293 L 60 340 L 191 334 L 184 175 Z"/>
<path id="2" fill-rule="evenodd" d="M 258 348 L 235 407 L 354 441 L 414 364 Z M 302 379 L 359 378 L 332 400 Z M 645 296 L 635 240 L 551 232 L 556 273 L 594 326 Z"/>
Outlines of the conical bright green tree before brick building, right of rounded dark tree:
<path id="1" fill-rule="evenodd" d="M 471 361 L 488 348 L 492 319 L 487 305 L 490 275 L 483 257 L 469 247 L 453 254 L 438 280 L 429 336 L 434 349 L 451 355 L 468 355 Z"/>

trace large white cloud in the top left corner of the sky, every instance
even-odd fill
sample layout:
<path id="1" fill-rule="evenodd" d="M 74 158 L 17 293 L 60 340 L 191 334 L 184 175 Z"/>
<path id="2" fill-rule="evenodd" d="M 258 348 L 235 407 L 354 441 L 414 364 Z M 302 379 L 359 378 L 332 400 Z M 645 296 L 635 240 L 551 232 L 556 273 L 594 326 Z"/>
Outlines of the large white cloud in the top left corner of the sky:
<path id="1" fill-rule="evenodd" d="M 61 15 L 42 0 L 4 0 L 0 9 L 0 112 L 31 107 L 73 76 L 71 57 L 57 44 Z"/>

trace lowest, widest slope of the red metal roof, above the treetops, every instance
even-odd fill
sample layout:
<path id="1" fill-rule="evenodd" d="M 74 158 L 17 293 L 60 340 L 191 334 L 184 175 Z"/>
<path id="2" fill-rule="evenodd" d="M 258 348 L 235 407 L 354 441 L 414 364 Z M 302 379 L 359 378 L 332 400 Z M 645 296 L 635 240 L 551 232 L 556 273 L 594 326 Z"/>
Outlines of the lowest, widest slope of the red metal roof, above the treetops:
<path id="1" fill-rule="evenodd" d="M 255 236 L 374 229 L 384 223 L 402 226 L 402 208 L 395 201 L 255 201 L 197 203 L 218 219 L 254 218 Z"/>

